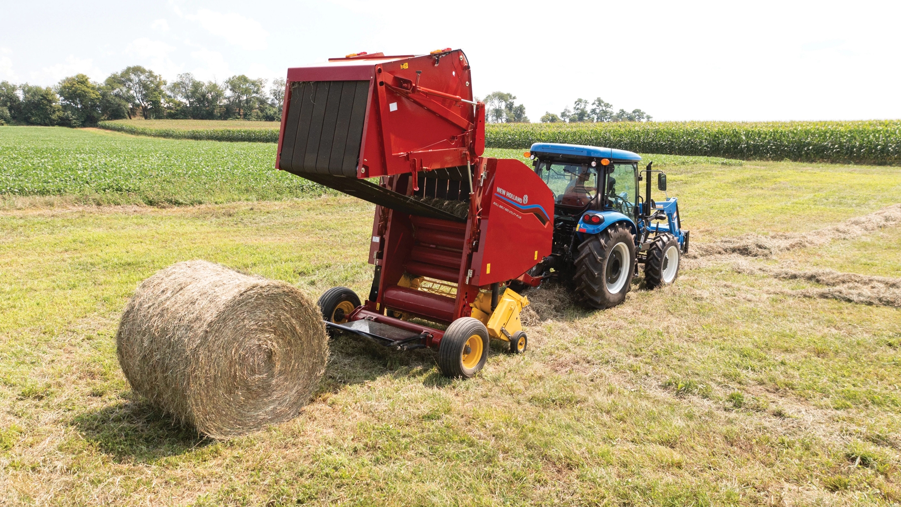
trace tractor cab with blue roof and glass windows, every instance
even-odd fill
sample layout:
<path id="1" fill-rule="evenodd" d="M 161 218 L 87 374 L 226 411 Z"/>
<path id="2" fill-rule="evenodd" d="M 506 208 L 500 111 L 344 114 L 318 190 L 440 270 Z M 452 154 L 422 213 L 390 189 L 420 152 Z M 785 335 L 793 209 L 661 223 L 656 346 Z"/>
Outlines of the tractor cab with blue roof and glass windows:
<path id="1" fill-rule="evenodd" d="M 615 211 L 635 222 L 638 154 L 559 143 L 533 144 L 530 153 L 535 173 L 554 193 L 554 215 Z"/>

